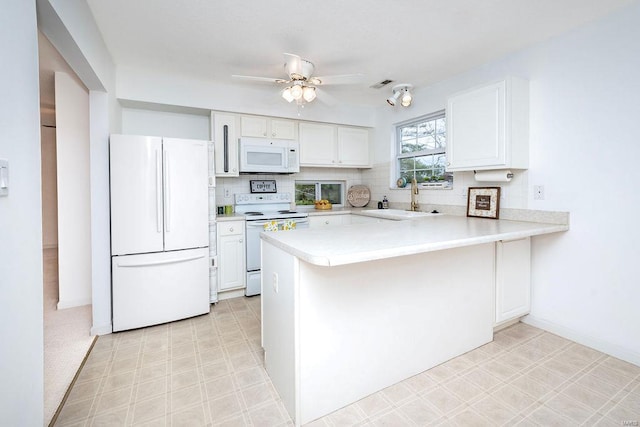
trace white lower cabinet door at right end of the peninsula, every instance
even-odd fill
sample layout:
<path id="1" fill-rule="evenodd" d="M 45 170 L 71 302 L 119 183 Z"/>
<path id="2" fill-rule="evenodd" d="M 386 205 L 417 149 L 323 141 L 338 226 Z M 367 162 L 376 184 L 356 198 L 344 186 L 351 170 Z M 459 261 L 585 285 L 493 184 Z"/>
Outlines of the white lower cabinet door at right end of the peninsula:
<path id="1" fill-rule="evenodd" d="M 531 238 L 496 242 L 495 324 L 531 310 Z"/>

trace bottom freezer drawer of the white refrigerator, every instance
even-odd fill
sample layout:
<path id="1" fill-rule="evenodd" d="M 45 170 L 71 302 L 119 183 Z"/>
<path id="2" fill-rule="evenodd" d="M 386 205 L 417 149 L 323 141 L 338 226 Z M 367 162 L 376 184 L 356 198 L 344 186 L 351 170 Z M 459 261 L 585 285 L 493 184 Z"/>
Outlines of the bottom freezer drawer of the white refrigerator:
<path id="1" fill-rule="evenodd" d="M 206 248 L 113 257 L 113 331 L 208 313 L 208 259 Z"/>

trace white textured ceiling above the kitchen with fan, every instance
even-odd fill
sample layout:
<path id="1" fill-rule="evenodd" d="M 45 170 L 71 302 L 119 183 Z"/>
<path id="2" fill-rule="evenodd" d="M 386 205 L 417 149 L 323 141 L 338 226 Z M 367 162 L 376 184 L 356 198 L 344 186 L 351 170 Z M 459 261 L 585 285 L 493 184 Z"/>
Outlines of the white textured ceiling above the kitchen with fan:
<path id="1" fill-rule="evenodd" d="M 339 100 L 379 105 L 380 90 L 369 86 L 383 79 L 427 86 L 631 1 L 88 0 L 88 4 L 118 66 L 238 83 L 232 74 L 285 77 L 282 54 L 289 52 L 315 63 L 315 75 L 362 73 L 358 84 L 323 89 Z M 391 93 L 390 86 L 382 90 L 384 98 Z"/>

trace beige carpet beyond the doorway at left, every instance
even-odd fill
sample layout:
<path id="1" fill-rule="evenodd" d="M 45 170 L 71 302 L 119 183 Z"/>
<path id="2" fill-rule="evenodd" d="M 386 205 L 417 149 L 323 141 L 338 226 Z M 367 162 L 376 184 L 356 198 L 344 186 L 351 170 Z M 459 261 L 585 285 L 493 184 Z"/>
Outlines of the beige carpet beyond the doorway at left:
<path id="1" fill-rule="evenodd" d="M 44 276 L 44 421 L 49 425 L 94 337 L 91 306 L 58 310 L 58 253 L 45 249 Z"/>

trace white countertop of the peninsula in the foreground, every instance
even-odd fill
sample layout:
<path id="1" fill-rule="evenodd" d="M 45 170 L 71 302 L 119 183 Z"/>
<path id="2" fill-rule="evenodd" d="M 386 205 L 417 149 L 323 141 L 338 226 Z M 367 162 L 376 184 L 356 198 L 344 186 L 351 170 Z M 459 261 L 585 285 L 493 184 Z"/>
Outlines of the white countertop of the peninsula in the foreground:
<path id="1" fill-rule="evenodd" d="M 352 264 L 566 231 L 568 225 L 434 215 L 410 221 L 261 233 L 276 247 L 320 266 Z"/>

